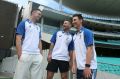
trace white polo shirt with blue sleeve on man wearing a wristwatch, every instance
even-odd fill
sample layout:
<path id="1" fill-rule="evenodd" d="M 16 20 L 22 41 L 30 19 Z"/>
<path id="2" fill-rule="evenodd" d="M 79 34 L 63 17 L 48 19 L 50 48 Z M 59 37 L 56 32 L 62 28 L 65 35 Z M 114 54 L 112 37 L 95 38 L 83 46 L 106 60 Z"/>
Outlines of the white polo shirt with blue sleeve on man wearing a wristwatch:
<path id="1" fill-rule="evenodd" d="M 73 37 L 74 41 L 74 50 L 76 54 L 76 62 L 78 69 L 85 69 L 86 64 L 86 53 L 87 47 L 93 46 L 93 55 L 91 59 L 91 69 L 97 68 L 97 60 L 96 60 L 96 51 L 94 45 L 94 35 L 93 33 L 84 27 L 80 29 L 79 32 L 75 33 Z"/>

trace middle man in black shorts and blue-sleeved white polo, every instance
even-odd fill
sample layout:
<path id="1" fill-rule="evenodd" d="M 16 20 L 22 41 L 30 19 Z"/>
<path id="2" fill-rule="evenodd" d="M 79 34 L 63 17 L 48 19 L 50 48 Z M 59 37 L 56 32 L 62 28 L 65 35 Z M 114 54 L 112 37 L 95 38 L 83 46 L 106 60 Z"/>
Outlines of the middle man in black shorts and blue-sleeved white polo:
<path id="1" fill-rule="evenodd" d="M 65 20 L 63 23 L 63 31 L 58 31 L 51 38 L 51 46 L 48 54 L 47 79 L 52 79 L 54 73 L 61 73 L 61 79 L 68 79 L 69 61 L 72 57 L 73 40 L 69 30 L 71 22 Z"/>

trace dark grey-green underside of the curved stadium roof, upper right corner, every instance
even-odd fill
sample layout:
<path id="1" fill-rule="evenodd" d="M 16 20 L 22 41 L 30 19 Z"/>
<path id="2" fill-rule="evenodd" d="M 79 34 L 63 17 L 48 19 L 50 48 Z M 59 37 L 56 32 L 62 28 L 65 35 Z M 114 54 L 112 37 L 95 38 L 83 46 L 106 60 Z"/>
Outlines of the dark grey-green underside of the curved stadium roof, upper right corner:
<path id="1" fill-rule="evenodd" d="M 120 0 L 62 0 L 62 4 L 86 14 L 120 18 Z"/>

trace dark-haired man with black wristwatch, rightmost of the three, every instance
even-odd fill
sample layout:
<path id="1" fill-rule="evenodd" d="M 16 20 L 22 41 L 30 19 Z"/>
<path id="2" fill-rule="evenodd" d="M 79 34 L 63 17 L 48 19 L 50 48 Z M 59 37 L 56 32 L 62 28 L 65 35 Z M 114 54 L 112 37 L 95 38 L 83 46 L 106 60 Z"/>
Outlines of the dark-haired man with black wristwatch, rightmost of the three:
<path id="1" fill-rule="evenodd" d="M 81 14 L 73 15 L 73 25 L 77 29 L 73 37 L 73 73 L 77 74 L 77 79 L 96 79 L 97 61 L 94 46 L 93 33 L 82 25 Z"/>

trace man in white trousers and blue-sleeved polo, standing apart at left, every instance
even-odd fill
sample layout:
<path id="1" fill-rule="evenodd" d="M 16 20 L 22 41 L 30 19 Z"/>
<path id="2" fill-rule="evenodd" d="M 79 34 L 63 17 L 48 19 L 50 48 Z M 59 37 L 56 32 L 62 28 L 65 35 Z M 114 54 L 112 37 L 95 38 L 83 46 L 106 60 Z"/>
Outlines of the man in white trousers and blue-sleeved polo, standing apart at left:
<path id="1" fill-rule="evenodd" d="M 33 9 L 30 19 L 20 22 L 17 27 L 18 64 L 13 79 L 40 79 L 42 44 L 40 27 L 36 24 L 40 17 L 41 11 Z"/>

